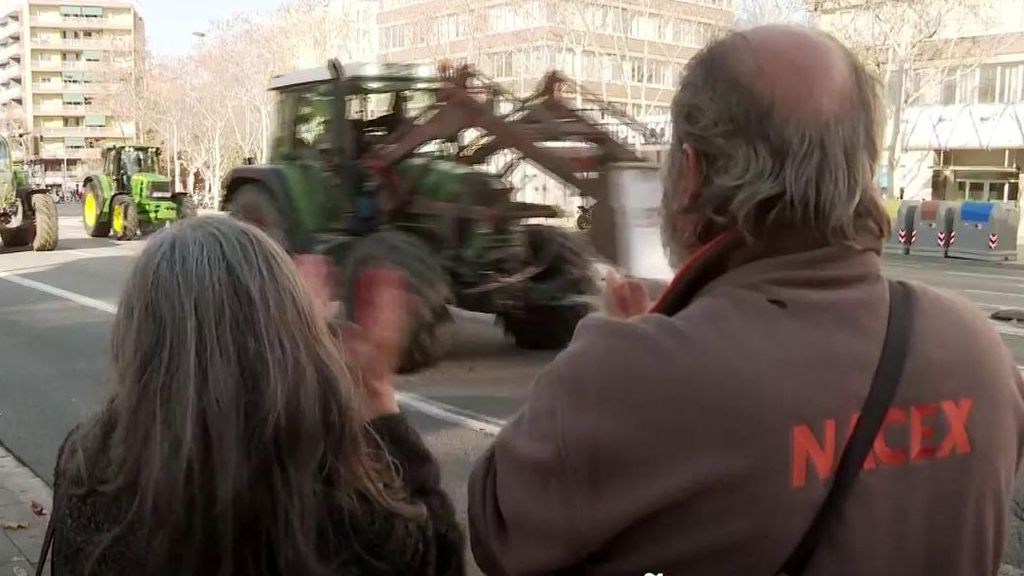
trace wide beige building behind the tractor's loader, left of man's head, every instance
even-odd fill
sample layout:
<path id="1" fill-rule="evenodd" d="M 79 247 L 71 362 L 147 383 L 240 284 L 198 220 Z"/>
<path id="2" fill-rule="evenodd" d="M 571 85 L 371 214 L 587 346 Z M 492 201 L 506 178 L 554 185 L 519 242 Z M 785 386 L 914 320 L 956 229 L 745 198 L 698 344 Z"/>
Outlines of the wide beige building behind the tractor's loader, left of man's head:
<path id="1" fill-rule="evenodd" d="M 518 93 L 558 69 L 664 120 L 682 67 L 731 28 L 731 0 L 381 0 L 387 61 L 470 61 Z"/>

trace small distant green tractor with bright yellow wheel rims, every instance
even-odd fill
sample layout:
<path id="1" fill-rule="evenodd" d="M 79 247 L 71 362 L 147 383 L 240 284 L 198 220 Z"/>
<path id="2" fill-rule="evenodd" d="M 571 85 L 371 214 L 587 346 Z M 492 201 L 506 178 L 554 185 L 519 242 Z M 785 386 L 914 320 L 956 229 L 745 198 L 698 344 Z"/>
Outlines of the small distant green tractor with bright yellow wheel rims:
<path id="1" fill-rule="evenodd" d="M 93 238 L 111 232 L 118 240 L 135 240 L 144 232 L 196 215 L 191 196 L 175 192 L 159 171 L 160 148 L 109 146 L 102 150 L 103 171 L 85 178 L 82 221 Z"/>

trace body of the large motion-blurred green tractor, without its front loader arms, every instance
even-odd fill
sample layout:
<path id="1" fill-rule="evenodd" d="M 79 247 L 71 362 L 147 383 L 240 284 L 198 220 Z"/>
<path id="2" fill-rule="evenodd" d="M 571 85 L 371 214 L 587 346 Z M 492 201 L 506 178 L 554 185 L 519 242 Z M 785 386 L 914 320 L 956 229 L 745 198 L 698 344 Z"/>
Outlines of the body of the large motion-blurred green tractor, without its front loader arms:
<path id="1" fill-rule="evenodd" d="M 345 70 L 332 60 L 275 77 L 270 89 L 278 121 L 269 163 L 231 170 L 220 209 L 290 252 L 330 256 L 346 319 L 364 270 L 402 271 L 415 303 L 400 371 L 446 354 L 450 305 L 495 315 L 522 348 L 557 349 L 571 339 L 594 308 L 592 261 L 571 233 L 523 221 L 559 216 L 557 209 L 514 202 L 501 175 L 461 161 L 451 123 L 415 153 L 381 161 L 395 142 L 433 129 L 409 117 L 413 104 L 457 107 L 441 96 L 458 86 L 419 66 Z"/>

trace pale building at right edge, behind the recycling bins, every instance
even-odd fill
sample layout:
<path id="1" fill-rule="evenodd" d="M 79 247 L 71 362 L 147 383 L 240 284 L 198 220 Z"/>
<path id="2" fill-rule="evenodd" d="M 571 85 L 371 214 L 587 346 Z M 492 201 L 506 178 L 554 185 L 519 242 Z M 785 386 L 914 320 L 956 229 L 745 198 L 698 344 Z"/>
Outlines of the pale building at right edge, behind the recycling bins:
<path id="1" fill-rule="evenodd" d="M 867 37 L 888 31 L 866 10 L 885 2 L 827 0 L 812 5 L 819 25 L 856 27 Z M 1024 5 L 1020 0 L 936 2 L 934 39 L 919 41 L 915 61 L 890 70 L 887 141 L 898 127 L 895 174 L 880 184 L 905 199 L 1020 201 L 1024 186 Z M 903 32 L 904 34 L 913 34 Z M 914 38 L 901 38 L 907 45 Z M 903 94 L 899 122 L 896 94 Z M 884 159 L 885 163 L 888 158 Z M 1024 240 L 1024 228 L 1022 228 Z"/>

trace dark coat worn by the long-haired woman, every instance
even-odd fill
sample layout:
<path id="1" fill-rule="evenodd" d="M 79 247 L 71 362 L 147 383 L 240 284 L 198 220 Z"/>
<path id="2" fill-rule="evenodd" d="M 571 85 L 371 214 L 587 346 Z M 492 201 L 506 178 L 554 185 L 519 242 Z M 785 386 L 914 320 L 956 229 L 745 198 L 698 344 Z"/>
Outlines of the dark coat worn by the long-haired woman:
<path id="1" fill-rule="evenodd" d="M 402 415 L 382 416 L 370 427 L 396 460 L 410 500 L 428 510 L 427 522 L 399 518 L 390 511 L 369 508 L 346 520 L 338 510 L 330 530 L 340 535 L 321 542 L 321 549 L 337 550 L 332 558 L 337 574 L 345 575 L 460 575 L 464 568 L 464 538 L 447 495 L 440 488 L 440 471 L 420 435 Z M 69 435 L 69 439 L 75 430 Z M 53 483 L 53 574 L 85 575 L 99 545 L 124 522 L 131 494 L 72 491 L 61 469 L 65 440 L 57 455 Z M 91 462 L 87 462 L 90 464 Z M 354 520 L 353 520 L 354 519 Z M 354 526 L 352 524 L 355 524 Z M 133 540 L 132 531 L 119 531 L 115 540 L 95 559 L 88 574 L 141 576 L 145 543 Z M 244 536 L 243 536 L 244 537 Z M 272 557 L 273 554 L 267 554 Z M 214 561 L 215 562 L 215 561 Z M 278 573 L 273 566 L 260 576 Z M 246 574 L 252 574 L 246 571 Z"/>

